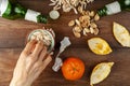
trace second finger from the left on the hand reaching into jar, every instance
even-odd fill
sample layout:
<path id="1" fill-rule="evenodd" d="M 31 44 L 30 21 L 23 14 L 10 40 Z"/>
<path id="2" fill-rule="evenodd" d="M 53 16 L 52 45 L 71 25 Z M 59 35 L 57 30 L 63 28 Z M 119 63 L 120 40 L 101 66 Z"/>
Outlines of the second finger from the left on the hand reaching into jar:
<path id="1" fill-rule="evenodd" d="M 41 53 L 41 51 L 43 49 L 43 42 L 42 41 L 39 41 L 37 44 L 36 44 L 36 47 L 32 52 L 32 55 L 35 57 L 38 57 Z"/>

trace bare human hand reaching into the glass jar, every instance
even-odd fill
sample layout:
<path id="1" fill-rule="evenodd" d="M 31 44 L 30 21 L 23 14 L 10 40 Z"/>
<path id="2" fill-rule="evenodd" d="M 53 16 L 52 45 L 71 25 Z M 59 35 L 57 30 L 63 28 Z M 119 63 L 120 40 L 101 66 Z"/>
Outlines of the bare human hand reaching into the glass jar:
<path id="1" fill-rule="evenodd" d="M 28 42 L 17 60 L 10 86 L 30 86 L 51 60 L 41 41 Z"/>

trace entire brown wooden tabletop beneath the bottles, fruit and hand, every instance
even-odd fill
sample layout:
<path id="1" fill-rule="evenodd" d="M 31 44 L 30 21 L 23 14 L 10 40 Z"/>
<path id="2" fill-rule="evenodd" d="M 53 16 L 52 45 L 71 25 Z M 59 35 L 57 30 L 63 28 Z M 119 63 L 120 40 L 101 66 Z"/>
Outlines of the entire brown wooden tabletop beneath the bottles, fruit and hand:
<path id="1" fill-rule="evenodd" d="M 95 0 L 88 5 L 88 10 L 98 10 L 106 3 L 114 0 Z M 49 6 L 50 0 L 18 0 L 24 6 L 48 14 L 52 6 Z M 99 35 L 89 35 L 76 39 L 73 35 L 72 28 L 67 26 L 68 22 L 79 15 L 74 12 L 63 13 L 57 20 L 50 20 L 48 25 L 25 22 L 23 19 L 9 20 L 0 17 L 0 86 L 9 86 L 13 69 L 18 59 L 21 52 L 25 46 L 25 38 L 29 31 L 44 27 L 51 27 L 56 33 L 55 54 L 58 51 L 60 41 L 64 37 L 69 37 L 72 46 L 68 47 L 61 57 L 65 59 L 69 56 L 76 56 L 86 63 L 86 73 L 81 80 L 76 82 L 66 81 L 62 72 L 53 72 L 50 66 L 43 71 L 32 86 L 90 86 L 89 77 L 93 67 L 103 61 L 114 61 L 109 76 L 95 86 L 130 86 L 130 48 L 122 47 L 114 38 L 112 32 L 113 22 L 117 22 L 130 31 L 130 12 L 121 12 L 116 15 L 102 17 L 98 22 Z M 105 39 L 113 48 L 113 53 L 106 56 L 93 54 L 88 45 L 87 40 L 92 37 Z"/>

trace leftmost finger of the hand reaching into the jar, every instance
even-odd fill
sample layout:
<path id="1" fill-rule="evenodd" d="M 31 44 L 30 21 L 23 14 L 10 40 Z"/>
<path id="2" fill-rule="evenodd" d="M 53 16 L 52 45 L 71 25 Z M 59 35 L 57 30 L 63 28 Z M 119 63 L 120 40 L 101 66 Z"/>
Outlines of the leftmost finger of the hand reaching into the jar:
<path id="1" fill-rule="evenodd" d="M 37 43 L 36 40 L 29 41 L 29 42 L 27 43 L 27 45 L 25 46 L 23 53 L 26 54 L 26 55 L 30 54 L 30 53 L 31 53 L 31 49 L 32 49 L 32 47 L 35 46 L 36 43 Z"/>

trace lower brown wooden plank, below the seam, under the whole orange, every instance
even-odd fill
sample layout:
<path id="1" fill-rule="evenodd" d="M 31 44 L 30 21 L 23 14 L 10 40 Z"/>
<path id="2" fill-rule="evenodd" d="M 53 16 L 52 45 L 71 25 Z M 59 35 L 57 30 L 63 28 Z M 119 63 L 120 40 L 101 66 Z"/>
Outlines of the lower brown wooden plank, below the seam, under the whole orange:
<path id="1" fill-rule="evenodd" d="M 23 48 L 1 48 L 0 49 L 0 86 L 9 86 L 13 69 Z M 115 52 L 116 51 L 116 52 Z M 34 83 L 34 86 L 89 86 L 89 77 L 93 67 L 103 61 L 114 61 L 109 76 L 95 86 L 129 86 L 129 48 L 116 48 L 114 53 L 106 56 L 98 56 L 88 48 L 68 48 L 61 57 L 63 59 L 76 56 L 84 61 L 86 73 L 83 77 L 76 82 L 66 81 L 62 72 L 54 73 L 51 70 L 53 61 L 42 72 L 40 77 Z M 55 80 L 56 78 L 56 80 Z"/>

